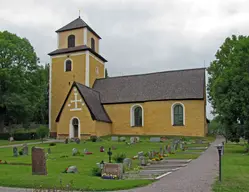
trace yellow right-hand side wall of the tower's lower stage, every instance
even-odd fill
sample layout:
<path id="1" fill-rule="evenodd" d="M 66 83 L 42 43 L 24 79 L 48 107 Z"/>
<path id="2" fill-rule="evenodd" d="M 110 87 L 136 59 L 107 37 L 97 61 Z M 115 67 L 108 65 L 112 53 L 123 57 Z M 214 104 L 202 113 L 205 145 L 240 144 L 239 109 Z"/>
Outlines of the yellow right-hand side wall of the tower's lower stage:
<path id="1" fill-rule="evenodd" d="M 90 87 L 93 86 L 94 81 L 97 78 L 103 78 L 105 76 L 105 65 L 103 63 L 100 63 L 97 59 L 95 59 L 95 56 L 92 56 L 90 54 L 90 59 L 89 59 L 89 85 Z M 99 74 L 96 73 L 96 67 L 98 67 Z"/>

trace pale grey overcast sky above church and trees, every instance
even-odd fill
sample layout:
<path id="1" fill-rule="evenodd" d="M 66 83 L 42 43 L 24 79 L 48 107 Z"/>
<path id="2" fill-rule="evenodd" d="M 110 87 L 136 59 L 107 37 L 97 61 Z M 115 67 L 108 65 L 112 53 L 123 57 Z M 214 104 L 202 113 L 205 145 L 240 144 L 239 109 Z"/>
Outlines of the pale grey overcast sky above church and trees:
<path id="1" fill-rule="evenodd" d="M 246 0 L 0 0 L 0 30 L 29 39 L 47 63 L 55 30 L 79 10 L 111 76 L 208 67 L 226 37 L 249 34 Z"/>

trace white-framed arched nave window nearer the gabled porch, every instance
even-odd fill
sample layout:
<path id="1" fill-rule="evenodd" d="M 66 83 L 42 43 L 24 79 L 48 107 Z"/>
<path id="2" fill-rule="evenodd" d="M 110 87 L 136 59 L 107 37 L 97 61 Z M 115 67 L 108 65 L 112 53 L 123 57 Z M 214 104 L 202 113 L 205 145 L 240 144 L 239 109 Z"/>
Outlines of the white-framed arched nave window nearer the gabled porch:
<path id="1" fill-rule="evenodd" d="M 131 126 L 142 127 L 144 125 L 144 112 L 141 105 L 131 107 Z"/>

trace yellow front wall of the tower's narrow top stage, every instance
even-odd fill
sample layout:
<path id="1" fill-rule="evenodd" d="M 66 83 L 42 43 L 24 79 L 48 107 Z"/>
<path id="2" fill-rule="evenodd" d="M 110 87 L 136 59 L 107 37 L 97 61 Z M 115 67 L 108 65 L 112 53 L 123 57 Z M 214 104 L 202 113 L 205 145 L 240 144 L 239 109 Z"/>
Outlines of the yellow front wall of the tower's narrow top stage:
<path id="1" fill-rule="evenodd" d="M 67 40 L 69 35 L 75 36 L 75 46 L 84 44 L 84 32 L 83 29 L 74 29 L 70 31 L 64 31 L 58 33 L 59 35 L 59 49 L 68 48 Z"/>

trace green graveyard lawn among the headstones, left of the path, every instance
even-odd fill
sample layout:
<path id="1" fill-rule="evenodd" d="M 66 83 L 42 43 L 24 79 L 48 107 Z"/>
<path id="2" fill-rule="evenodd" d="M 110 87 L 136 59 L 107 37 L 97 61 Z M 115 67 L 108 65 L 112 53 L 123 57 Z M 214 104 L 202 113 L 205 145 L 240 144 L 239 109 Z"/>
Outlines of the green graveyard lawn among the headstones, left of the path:
<path id="1" fill-rule="evenodd" d="M 105 139 L 102 142 L 93 143 L 88 141 L 86 143 L 57 143 L 56 146 L 50 147 L 52 154 L 49 155 L 47 160 L 47 176 L 32 176 L 31 166 L 19 166 L 19 165 L 6 165 L 0 164 L 0 185 L 11 187 L 27 187 L 33 188 L 34 186 L 42 186 L 44 188 L 60 187 L 60 181 L 63 186 L 69 183 L 73 183 L 74 189 L 78 190 L 118 190 L 129 189 L 138 186 L 143 186 L 151 183 L 150 180 L 103 180 L 99 177 L 92 176 L 91 170 L 96 167 L 96 163 L 101 160 L 108 162 L 108 155 L 106 152 L 99 152 L 100 146 L 104 146 L 107 151 L 109 147 L 114 145 L 117 147 L 113 150 L 113 155 L 117 153 L 125 153 L 126 157 L 132 158 L 137 155 L 139 151 L 148 152 L 149 150 L 159 151 L 159 148 L 168 144 L 171 140 L 164 143 L 151 143 L 147 139 L 142 140 L 135 145 L 127 145 L 125 142 L 112 142 L 110 139 Z M 49 148 L 49 144 L 40 144 L 39 147 Z M 32 146 L 29 146 L 29 151 Z M 93 152 L 92 155 L 85 156 L 72 156 L 72 149 L 77 148 L 80 152 L 83 152 L 84 148 Z M 20 147 L 18 148 L 21 149 Z M 29 152 L 31 154 L 31 152 Z M 61 156 L 67 155 L 68 157 L 61 158 Z M 197 158 L 198 154 L 181 154 L 176 153 L 170 155 L 168 158 L 176 159 L 193 159 Z M 6 160 L 7 162 L 19 162 L 19 163 L 31 163 L 31 155 L 13 157 L 12 148 L 0 149 L 0 160 Z M 133 167 L 137 167 L 138 160 L 133 160 Z M 68 166 L 75 165 L 78 168 L 78 174 L 65 174 L 61 173 Z"/>

